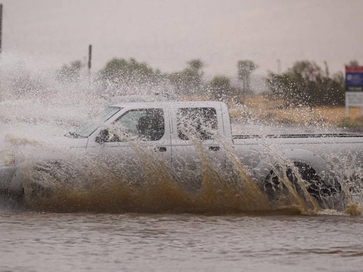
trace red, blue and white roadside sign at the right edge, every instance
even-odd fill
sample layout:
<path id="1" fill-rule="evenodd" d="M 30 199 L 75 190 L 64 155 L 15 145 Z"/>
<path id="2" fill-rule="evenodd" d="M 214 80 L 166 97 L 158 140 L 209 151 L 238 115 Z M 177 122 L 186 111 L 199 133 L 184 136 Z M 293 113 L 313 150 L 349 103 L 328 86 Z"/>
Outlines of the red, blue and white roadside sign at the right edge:
<path id="1" fill-rule="evenodd" d="M 345 66 L 345 115 L 349 107 L 360 107 L 363 115 L 363 66 Z"/>

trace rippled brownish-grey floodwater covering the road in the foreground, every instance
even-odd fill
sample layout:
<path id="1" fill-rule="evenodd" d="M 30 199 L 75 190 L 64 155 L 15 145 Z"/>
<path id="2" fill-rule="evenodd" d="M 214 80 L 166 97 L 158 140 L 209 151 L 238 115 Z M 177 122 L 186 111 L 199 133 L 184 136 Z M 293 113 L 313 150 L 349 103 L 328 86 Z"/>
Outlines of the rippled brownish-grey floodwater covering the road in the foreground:
<path id="1" fill-rule="evenodd" d="M 363 217 L 0 213 L 0 271 L 361 271 Z"/>

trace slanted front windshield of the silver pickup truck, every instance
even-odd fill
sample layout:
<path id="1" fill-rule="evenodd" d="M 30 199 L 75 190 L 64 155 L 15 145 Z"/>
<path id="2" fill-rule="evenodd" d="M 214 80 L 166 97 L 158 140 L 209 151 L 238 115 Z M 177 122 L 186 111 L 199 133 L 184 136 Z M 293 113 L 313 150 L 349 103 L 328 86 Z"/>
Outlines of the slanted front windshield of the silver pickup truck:
<path id="1" fill-rule="evenodd" d="M 105 110 L 99 112 L 90 122 L 82 125 L 74 133 L 70 133 L 70 135 L 79 138 L 87 138 L 99 127 L 100 124 L 109 120 L 120 110 L 122 110 L 120 107 L 108 107 Z"/>

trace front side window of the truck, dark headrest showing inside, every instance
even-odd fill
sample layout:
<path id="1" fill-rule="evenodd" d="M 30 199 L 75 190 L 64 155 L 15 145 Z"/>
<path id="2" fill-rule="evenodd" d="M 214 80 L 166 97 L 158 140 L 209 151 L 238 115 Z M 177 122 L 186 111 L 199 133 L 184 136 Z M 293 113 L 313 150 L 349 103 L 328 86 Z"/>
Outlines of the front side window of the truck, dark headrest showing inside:
<path id="1" fill-rule="evenodd" d="M 158 141 L 165 133 L 164 112 L 159 108 L 137 109 L 125 112 L 115 122 L 115 133 L 142 140 Z M 117 141 L 119 135 L 113 136 Z"/>

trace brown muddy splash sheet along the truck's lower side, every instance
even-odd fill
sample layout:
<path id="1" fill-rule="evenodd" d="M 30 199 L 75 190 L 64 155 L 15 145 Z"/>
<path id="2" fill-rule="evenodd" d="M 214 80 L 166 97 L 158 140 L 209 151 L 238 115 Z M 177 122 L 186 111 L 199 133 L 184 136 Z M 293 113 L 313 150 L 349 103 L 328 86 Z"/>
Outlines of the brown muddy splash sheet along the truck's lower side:
<path id="1" fill-rule="evenodd" d="M 115 174 L 106 164 L 85 152 L 69 151 L 25 139 L 13 143 L 18 146 L 31 144 L 34 151 L 40 154 L 53 152 L 57 158 L 56 162 L 49 162 L 49 157 L 44 161 L 42 156 L 24 158 L 21 168 L 24 201 L 32 210 L 213 214 L 241 211 L 320 212 L 317 202 L 305 187 L 301 185 L 305 189 L 301 195 L 286 174 L 280 180 L 288 188 L 288 193 L 278 201 L 271 201 L 245 173 L 233 153 L 227 152 L 237 169 L 237 175 L 231 178 L 213 165 L 197 143 L 203 165 L 203 181 L 199 191 L 190 191 L 181 186 L 183 177 L 173 173 L 170 166 L 159 160 L 143 143 L 130 142 L 138 163 L 142 165 L 137 177 L 127 168 L 121 174 Z M 34 154 L 34 151 L 29 153 Z M 119 162 L 121 168 L 122 163 Z M 302 184 L 301 178 L 299 183 Z M 360 211 L 350 202 L 347 213 L 357 215 Z"/>

